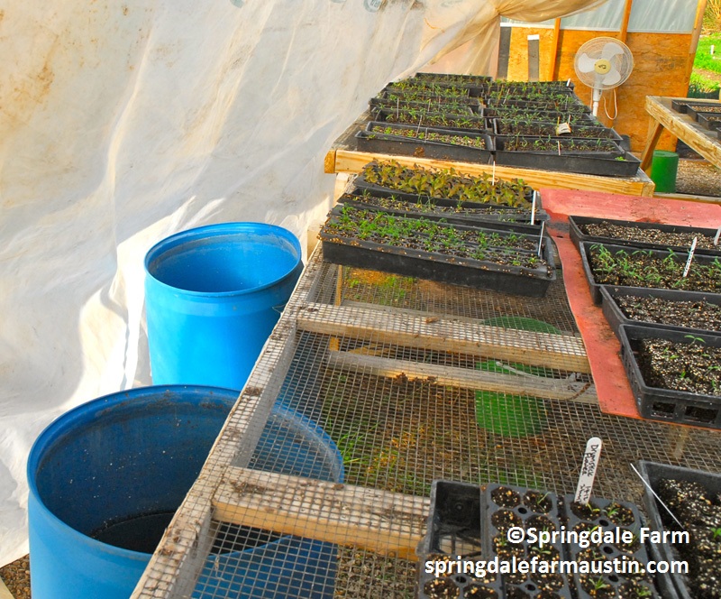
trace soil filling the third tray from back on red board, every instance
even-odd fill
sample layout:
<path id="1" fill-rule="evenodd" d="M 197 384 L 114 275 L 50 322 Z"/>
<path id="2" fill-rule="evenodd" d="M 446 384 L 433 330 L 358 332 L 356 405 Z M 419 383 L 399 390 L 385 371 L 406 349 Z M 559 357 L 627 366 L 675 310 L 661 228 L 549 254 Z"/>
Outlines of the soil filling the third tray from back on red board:
<path id="1" fill-rule="evenodd" d="M 617 297 L 616 302 L 632 320 L 721 331 L 721 306 L 707 301 L 669 301 L 626 295 Z"/>

